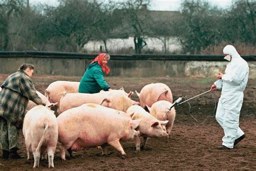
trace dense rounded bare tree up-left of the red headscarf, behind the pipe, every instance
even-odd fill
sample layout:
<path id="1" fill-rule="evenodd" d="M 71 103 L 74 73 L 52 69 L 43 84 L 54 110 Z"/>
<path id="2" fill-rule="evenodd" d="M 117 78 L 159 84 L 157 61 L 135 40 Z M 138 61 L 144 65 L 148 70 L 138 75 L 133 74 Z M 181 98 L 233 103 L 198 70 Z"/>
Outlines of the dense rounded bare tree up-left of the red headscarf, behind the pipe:
<path id="1" fill-rule="evenodd" d="M 66 0 L 56 9 L 49 10 L 48 16 L 55 27 L 56 37 L 63 41 L 62 46 L 71 52 L 80 52 L 97 31 L 99 13 L 97 3 Z"/>

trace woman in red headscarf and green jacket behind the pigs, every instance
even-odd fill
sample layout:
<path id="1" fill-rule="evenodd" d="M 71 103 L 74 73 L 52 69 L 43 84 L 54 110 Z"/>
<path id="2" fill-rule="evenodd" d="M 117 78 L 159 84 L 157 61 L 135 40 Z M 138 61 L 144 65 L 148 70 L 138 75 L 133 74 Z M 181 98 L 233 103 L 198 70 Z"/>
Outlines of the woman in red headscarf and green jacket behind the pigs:
<path id="1" fill-rule="evenodd" d="M 87 66 L 86 72 L 82 77 L 78 92 L 93 94 L 100 90 L 111 90 L 109 84 L 104 80 L 104 73 L 109 74 L 110 69 L 107 62 L 110 60 L 110 55 L 100 53 L 90 65 Z"/>

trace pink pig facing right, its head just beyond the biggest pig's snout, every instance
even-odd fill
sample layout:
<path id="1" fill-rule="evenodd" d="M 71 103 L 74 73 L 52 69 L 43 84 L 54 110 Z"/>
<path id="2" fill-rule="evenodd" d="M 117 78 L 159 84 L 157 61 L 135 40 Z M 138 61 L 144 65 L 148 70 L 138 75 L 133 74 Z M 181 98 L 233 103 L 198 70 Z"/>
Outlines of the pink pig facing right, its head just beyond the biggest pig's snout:
<path id="1" fill-rule="evenodd" d="M 127 113 L 133 113 L 131 115 L 132 120 L 142 119 L 139 127 L 136 129 L 140 132 L 140 136 L 136 137 L 135 144 L 136 150 L 140 151 L 140 137 L 143 137 L 144 142 L 142 148 L 146 147 L 148 137 L 167 137 L 165 126 L 169 122 L 168 120 L 161 121 L 146 112 L 141 106 L 133 105 L 126 111 Z"/>

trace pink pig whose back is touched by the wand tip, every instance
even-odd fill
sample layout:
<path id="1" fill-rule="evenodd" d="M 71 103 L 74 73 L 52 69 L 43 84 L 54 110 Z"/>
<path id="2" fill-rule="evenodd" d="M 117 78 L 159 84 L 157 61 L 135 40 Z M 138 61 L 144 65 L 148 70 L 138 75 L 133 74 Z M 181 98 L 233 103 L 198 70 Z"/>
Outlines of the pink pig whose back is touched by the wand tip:
<path id="1" fill-rule="evenodd" d="M 167 101 L 158 101 L 154 103 L 151 108 L 147 106 L 147 108 L 150 111 L 150 114 L 157 118 L 158 120 L 169 120 L 169 122 L 166 125 L 166 132 L 170 134 L 172 131 L 173 122 L 176 116 L 176 111 L 174 107 L 169 110 L 172 103 Z"/>

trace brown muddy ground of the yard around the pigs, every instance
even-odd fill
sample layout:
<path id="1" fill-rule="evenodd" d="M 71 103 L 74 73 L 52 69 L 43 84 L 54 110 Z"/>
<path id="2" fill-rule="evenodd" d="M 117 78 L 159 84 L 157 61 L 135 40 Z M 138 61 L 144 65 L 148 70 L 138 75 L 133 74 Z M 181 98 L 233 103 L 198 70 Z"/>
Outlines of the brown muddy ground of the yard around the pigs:
<path id="1" fill-rule="evenodd" d="M 0 83 L 8 75 L 0 74 Z M 33 82 L 38 91 L 57 80 L 79 81 L 80 77 L 35 76 Z M 162 82 L 172 90 L 173 99 L 184 96 L 191 98 L 210 89 L 214 78 L 188 77 L 106 77 L 114 89 L 124 87 L 126 91 L 140 91 L 146 84 Z M 75 153 L 76 159 L 60 160 L 59 148 L 55 153 L 52 170 L 255 170 L 256 169 L 256 118 L 255 89 L 256 80 L 249 80 L 245 90 L 244 104 L 240 115 L 240 127 L 246 138 L 234 149 L 219 151 L 224 132 L 214 118 L 215 103 L 218 103 L 220 92 L 208 92 L 194 98 L 188 103 L 176 107 L 176 120 L 169 139 L 150 138 L 147 148 L 136 153 L 132 141 L 123 142 L 127 154 L 120 158 L 113 147 L 108 147 L 108 156 L 100 156 L 96 148 L 85 149 Z M 138 101 L 134 94 L 132 99 Z M 205 120 L 206 119 L 206 120 Z M 21 132 L 22 155 L 26 156 L 24 137 Z M 2 151 L 0 152 L 2 156 Z M 33 161 L 26 159 L 0 159 L 0 170 L 30 170 Z M 48 161 L 41 161 L 39 169 L 48 169 Z"/>

